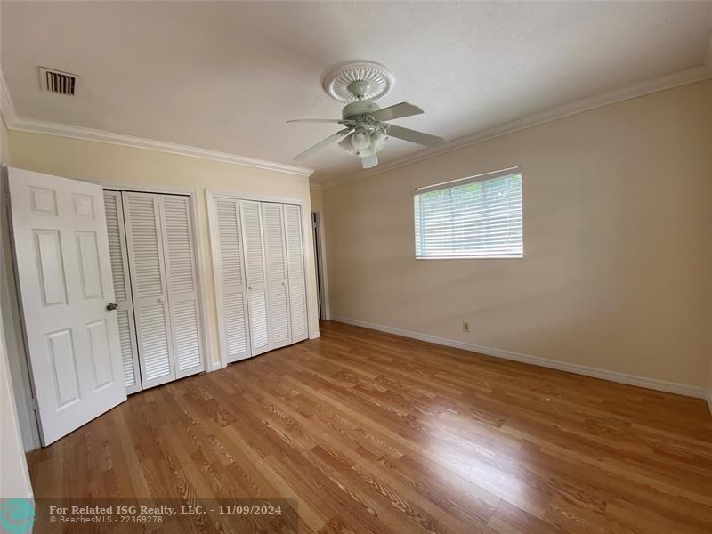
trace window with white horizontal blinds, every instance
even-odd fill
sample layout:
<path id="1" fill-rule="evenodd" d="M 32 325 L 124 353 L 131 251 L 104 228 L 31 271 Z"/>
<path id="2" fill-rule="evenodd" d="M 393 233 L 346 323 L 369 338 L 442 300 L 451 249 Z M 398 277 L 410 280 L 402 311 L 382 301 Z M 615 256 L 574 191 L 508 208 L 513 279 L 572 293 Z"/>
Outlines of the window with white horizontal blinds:
<path id="1" fill-rule="evenodd" d="M 519 167 L 420 188 L 416 258 L 521 258 Z"/>

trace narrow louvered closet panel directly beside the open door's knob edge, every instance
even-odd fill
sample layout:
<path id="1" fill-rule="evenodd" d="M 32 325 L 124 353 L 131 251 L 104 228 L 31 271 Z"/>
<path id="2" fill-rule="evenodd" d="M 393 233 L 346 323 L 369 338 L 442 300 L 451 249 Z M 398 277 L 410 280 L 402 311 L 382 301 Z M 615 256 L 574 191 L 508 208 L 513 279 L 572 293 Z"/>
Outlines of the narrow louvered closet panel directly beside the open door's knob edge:
<path id="1" fill-rule="evenodd" d="M 104 207 L 106 227 L 109 234 L 109 256 L 111 258 L 111 273 L 114 281 L 114 299 L 118 304 L 118 338 L 121 345 L 124 383 L 126 385 L 126 393 L 130 394 L 140 392 L 142 388 L 121 193 L 118 191 L 104 191 Z"/>

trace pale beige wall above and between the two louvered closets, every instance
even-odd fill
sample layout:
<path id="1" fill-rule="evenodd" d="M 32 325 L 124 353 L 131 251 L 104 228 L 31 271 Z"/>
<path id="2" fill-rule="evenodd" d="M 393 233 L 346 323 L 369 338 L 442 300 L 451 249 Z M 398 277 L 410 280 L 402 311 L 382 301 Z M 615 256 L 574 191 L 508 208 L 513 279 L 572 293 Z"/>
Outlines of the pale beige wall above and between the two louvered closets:
<path id="1" fill-rule="evenodd" d="M 294 198 L 305 202 L 303 223 L 311 225 L 308 178 L 295 174 L 236 166 L 199 158 L 188 158 L 153 150 L 85 142 L 66 137 L 10 131 L 10 165 L 40 173 L 79 180 L 139 182 L 158 186 L 198 188 L 200 237 L 203 243 L 203 270 L 206 274 L 206 307 L 212 359 L 219 361 L 214 299 L 213 265 L 208 234 L 206 189 L 235 191 L 246 195 Z M 310 226 L 307 226 L 309 228 Z M 311 232 L 307 232 L 309 236 Z M 312 250 L 311 238 L 306 243 Z M 307 301 L 310 334 L 319 331 L 312 255 L 307 255 Z"/>

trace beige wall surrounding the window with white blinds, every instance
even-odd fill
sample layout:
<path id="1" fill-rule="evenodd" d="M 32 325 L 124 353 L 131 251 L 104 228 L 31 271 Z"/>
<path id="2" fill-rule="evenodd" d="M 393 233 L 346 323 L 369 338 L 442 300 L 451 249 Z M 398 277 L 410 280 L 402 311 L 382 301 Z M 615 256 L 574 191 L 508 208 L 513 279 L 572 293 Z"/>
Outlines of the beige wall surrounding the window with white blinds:
<path id="1" fill-rule="evenodd" d="M 707 387 L 710 147 L 706 81 L 324 190 L 332 315 Z M 414 259 L 412 190 L 517 165 L 523 259 Z"/>

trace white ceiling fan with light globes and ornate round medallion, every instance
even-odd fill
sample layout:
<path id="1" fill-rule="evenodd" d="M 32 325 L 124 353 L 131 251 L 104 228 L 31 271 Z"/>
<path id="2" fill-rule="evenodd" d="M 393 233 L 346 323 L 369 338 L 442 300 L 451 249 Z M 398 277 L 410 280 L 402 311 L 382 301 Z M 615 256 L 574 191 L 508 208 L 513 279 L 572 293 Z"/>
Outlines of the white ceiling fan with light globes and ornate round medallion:
<path id="1" fill-rule="evenodd" d="M 388 123 L 396 118 L 423 113 L 423 109 L 408 102 L 383 109 L 374 102 L 391 90 L 393 81 L 390 70 L 371 61 L 349 63 L 330 72 L 324 79 L 327 93 L 337 101 L 351 102 L 342 110 L 342 118 L 303 118 L 288 120 L 287 123 L 334 123 L 344 125 L 344 128 L 295 156 L 295 161 L 309 158 L 339 140 L 339 146 L 352 156 L 358 156 L 365 169 L 378 165 L 376 154 L 388 137 L 415 142 L 428 148 L 441 146 L 444 142 L 441 137 Z"/>

